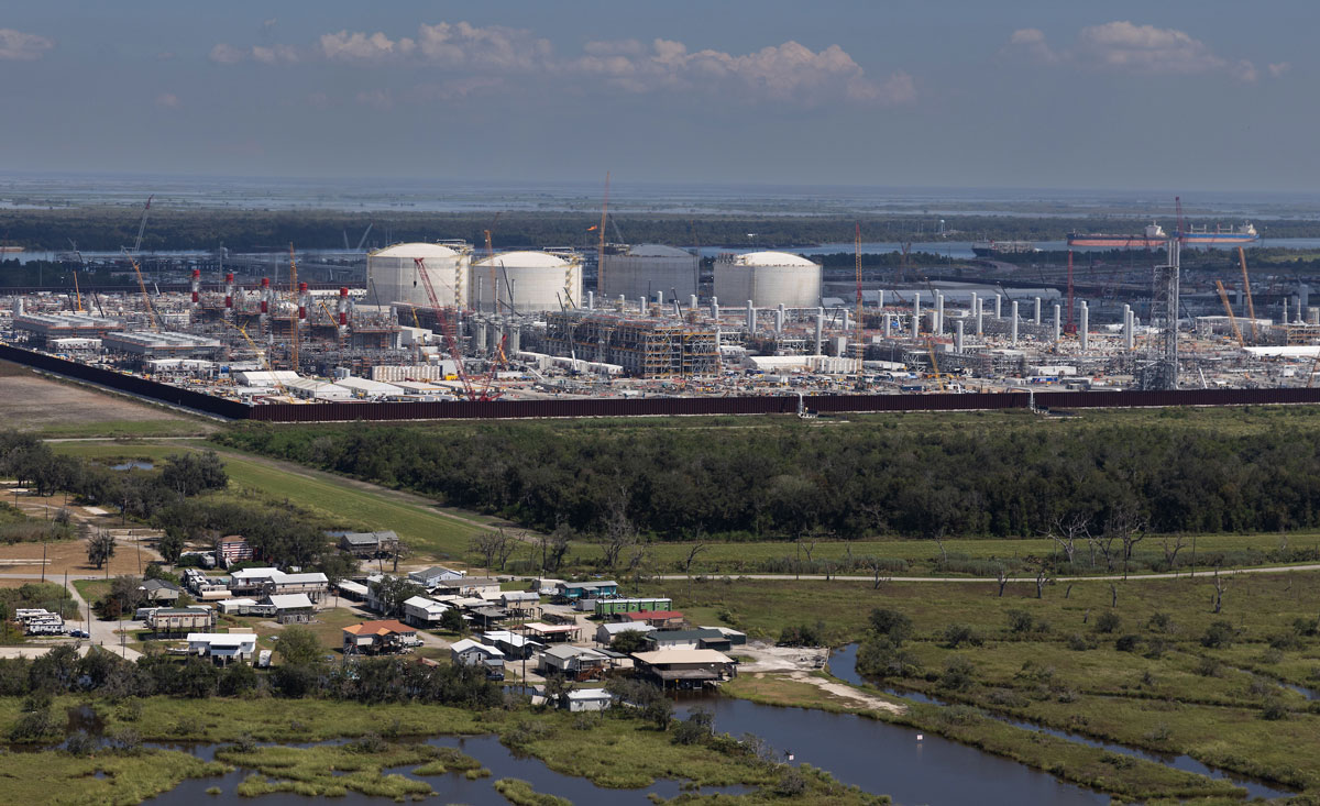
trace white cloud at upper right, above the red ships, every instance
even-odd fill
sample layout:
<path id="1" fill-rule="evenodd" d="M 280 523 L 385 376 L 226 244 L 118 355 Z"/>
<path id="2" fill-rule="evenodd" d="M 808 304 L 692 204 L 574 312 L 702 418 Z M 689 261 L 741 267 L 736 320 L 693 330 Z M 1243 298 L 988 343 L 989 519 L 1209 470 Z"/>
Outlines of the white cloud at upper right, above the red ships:
<path id="1" fill-rule="evenodd" d="M 1051 47 L 1040 29 L 1022 28 L 1008 37 L 1005 51 L 1040 63 L 1071 62 L 1089 70 L 1144 77 L 1229 75 L 1246 83 L 1261 77 L 1253 62 L 1218 55 L 1187 32 L 1126 20 L 1082 28 L 1073 46 L 1067 49 Z"/>

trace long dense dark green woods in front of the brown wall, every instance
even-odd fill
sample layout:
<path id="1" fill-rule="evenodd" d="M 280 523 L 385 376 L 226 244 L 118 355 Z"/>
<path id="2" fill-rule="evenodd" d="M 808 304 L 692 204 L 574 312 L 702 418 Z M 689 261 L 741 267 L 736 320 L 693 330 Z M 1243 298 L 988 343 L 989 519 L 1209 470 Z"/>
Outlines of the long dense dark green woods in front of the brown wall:
<path id="1" fill-rule="evenodd" d="M 618 518 L 661 540 L 1031 537 L 1074 516 L 1096 528 L 1130 516 L 1159 533 L 1320 526 L 1320 430 L 1304 423 L 1234 435 L 1158 419 L 1065 433 L 902 422 L 568 433 L 546 423 L 253 426 L 223 439 L 586 536 L 620 532 Z"/>

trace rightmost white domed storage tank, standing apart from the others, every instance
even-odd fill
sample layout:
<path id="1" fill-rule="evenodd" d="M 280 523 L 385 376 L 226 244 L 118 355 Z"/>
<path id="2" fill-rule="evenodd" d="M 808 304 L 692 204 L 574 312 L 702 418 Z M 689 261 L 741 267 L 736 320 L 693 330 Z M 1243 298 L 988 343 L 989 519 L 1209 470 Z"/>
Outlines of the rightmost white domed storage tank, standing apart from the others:
<path id="1" fill-rule="evenodd" d="M 715 260 L 715 297 L 721 305 L 816 307 L 821 303 L 821 268 L 787 252 L 722 255 Z"/>

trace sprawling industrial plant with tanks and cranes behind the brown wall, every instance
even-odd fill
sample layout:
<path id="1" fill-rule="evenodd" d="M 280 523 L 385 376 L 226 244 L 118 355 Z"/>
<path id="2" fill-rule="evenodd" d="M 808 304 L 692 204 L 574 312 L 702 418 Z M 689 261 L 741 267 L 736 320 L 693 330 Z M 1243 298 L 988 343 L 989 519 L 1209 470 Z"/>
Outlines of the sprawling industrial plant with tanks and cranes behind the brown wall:
<path id="1" fill-rule="evenodd" d="M 248 406 L 1312 385 L 1320 309 L 1304 285 L 1280 294 L 1269 277 L 1253 298 L 1241 248 L 1236 298 L 1222 281 L 1184 282 L 1184 239 L 1159 235 L 1159 251 L 1138 239 L 1151 265 L 1104 286 L 1072 247 L 1065 269 L 993 249 L 935 277 L 906 253 L 896 270 L 865 266 L 859 243 L 855 265 L 829 268 L 603 237 L 581 251 L 396 243 L 342 260 L 300 260 L 292 244 L 62 255 L 123 285 L 15 290 L 0 339 L 15 360 Z"/>

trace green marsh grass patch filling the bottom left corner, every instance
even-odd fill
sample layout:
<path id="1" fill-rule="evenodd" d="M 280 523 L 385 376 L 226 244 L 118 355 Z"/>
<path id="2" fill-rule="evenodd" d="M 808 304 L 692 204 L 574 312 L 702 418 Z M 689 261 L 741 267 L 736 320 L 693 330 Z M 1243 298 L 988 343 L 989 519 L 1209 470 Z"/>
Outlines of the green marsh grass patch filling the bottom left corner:
<path id="1" fill-rule="evenodd" d="M 5 803 L 137 806 L 186 778 L 219 776 L 224 765 L 180 751 L 102 752 L 92 757 L 62 752 L 0 753 L 0 793 Z"/>

